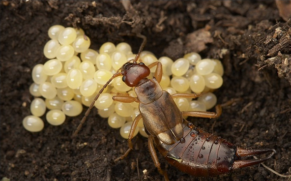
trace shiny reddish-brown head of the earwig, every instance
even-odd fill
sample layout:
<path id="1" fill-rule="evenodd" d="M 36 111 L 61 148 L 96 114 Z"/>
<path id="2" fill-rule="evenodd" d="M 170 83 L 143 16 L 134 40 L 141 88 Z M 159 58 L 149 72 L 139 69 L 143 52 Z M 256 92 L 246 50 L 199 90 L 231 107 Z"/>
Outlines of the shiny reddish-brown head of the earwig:
<path id="1" fill-rule="evenodd" d="M 127 62 L 121 67 L 121 73 L 122 81 L 129 87 L 135 87 L 150 74 L 150 70 L 143 62 Z"/>

